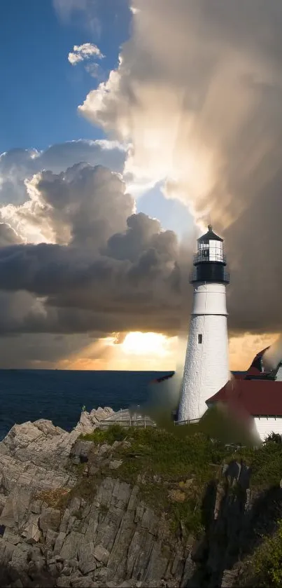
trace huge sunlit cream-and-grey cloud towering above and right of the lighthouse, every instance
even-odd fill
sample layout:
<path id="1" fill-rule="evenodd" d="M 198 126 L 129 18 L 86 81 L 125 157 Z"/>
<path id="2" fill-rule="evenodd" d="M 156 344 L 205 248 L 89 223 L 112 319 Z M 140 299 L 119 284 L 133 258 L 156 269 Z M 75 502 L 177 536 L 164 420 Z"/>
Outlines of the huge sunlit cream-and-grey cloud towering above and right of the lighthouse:
<path id="1" fill-rule="evenodd" d="M 282 5 L 134 0 L 133 8 L 118 69 L 80 114 L 132 144 L 125 172 L 135 181 L 163 181 L 197 221 L 211 215 L 230 262 L 231 331 L 277 332 Z"/>

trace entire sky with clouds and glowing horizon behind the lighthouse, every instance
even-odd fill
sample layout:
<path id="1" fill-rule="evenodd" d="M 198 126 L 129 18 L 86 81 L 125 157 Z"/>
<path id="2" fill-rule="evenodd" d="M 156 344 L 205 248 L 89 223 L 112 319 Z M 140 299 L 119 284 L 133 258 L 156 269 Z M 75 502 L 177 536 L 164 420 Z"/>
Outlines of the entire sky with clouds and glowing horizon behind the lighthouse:
<path id="1" fill-rule="evenodd" d="M 248 367 L 282 327 L 279 1 L 0 11 L 0 367 L 175 369 L 210 219 Z"/>

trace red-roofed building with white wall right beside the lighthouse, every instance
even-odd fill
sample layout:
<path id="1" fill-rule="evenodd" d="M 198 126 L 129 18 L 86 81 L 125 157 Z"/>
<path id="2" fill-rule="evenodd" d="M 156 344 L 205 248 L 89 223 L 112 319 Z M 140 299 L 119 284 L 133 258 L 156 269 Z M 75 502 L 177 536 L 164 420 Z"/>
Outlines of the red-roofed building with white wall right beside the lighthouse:
<path id="1" fill-rule="evenodd" d="M 262 371 L 262 356 L 266 349 L 255 356 L 248 371 L 227 382 L 221 390 L 206 401 L 207 406 L 217 402 L 227 404 L 250 416 L 263 440 L 272 432 L 282 435 L 282 381 L 281 363 L 273 371 Z"/>

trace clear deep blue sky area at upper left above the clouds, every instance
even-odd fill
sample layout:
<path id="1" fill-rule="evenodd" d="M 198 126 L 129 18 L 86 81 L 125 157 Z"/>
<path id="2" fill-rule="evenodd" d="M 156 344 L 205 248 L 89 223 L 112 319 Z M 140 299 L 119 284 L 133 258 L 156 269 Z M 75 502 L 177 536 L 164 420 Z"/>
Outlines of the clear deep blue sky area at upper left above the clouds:
<path id="1" fill-rule="evenodd" d="M 95 43 L 106 56 L 104 71 L 115 67 L 131 13 L 126 0 L 94 4 L 97 27 L 88 27 L 81 13 L 62 21 L 52 0 L 1 3 L 0 152 L 103 137 L 77 114 L 97 82 L 67 57 L 74 45 Z"/>

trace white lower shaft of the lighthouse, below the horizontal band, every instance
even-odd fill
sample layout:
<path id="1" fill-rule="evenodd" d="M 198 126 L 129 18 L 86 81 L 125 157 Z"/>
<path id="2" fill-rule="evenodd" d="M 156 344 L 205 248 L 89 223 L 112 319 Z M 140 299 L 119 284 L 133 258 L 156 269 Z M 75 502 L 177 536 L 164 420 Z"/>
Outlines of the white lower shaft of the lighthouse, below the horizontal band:
<path id="1" fill-rule="evenodd" d="M 230 378 L 226 315 L 192 315 L 178 421 L 194 421 Z"/>

